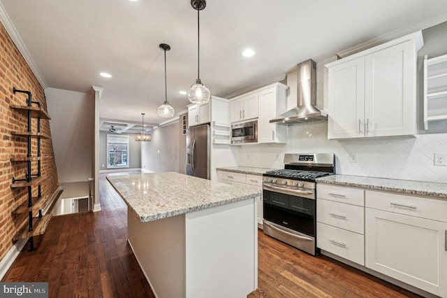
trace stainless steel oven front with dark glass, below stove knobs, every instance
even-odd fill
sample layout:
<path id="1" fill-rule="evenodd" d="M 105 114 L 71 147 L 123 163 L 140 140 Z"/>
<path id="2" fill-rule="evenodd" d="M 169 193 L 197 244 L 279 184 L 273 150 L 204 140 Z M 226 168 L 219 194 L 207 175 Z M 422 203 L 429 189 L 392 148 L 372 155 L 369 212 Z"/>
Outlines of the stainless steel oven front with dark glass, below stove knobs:
<path id="1" fill-rule="evenodd" d="M 316 255 L 316 200 L 263 190 L 264 233 Z"/>

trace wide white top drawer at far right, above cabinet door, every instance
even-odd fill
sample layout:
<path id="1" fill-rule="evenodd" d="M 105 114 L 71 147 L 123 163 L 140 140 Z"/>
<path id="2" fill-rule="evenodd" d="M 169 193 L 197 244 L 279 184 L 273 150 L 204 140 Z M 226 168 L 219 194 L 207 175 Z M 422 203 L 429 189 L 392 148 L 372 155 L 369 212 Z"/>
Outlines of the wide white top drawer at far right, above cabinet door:
<path id="1" fill-rule="evenodd" d="M 447 201 L 444 200 L 367 190 L 365 201 L 369 208 L 447 222 Z"/>

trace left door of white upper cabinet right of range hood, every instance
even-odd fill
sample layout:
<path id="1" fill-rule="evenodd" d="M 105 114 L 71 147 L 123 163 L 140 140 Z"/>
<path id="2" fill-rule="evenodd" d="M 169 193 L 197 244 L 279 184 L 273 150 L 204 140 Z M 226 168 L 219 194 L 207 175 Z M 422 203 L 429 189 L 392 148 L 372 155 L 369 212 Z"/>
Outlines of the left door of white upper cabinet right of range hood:
<path id="1" fill-rule="evenodd" d="M 328 139 L 363 137 L 365 57 L 333 66 L 328 74 Z"/>

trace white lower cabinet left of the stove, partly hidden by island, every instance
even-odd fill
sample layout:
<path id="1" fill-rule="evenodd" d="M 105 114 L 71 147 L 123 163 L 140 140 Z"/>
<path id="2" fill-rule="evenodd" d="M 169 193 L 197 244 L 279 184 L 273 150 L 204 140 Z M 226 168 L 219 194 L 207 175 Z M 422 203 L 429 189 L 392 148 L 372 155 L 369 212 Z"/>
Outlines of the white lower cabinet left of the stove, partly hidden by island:
<path id="1" fill-rule="evenodd" d="M 217 181 L 230 185 L 239 185 L 249 190 L 261 192 L 257 198 L 258 227 L 263 228 L 263 176 L 248 173 L 238 173 L 233 171 L 217 170 Z"/>

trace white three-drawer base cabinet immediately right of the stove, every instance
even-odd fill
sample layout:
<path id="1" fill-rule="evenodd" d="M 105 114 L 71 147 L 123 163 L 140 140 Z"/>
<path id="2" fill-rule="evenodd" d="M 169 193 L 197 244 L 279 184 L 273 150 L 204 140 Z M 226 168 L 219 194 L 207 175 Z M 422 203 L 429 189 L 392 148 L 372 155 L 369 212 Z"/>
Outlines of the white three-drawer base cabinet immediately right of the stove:
<path id="1" fill-rule="evenodd" d="M 316 246 L 365 265 L 364 190 L 316 186 Z"/>

